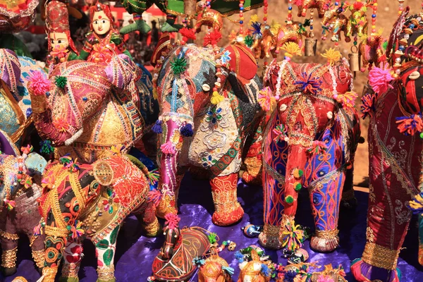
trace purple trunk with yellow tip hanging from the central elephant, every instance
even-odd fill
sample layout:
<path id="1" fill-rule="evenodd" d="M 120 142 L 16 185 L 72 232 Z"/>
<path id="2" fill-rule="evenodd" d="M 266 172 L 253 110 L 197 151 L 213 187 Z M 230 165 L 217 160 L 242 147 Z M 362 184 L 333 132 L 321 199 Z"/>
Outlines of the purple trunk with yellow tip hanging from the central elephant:
<path id="1" fill-rule="evenodd" d="M 162 199 L 157 207 L 157 216 L 164 218 L 168 213 L 177 214 L 178 190 L 182 176 L 178 176 L 178 157 L 183 144 L 181 132 L 185 125 L 181 127 L 178 121 L 164 121 L 161 139 L 160 158 L 160 181 L 159 189 L 162 192 Z"/>

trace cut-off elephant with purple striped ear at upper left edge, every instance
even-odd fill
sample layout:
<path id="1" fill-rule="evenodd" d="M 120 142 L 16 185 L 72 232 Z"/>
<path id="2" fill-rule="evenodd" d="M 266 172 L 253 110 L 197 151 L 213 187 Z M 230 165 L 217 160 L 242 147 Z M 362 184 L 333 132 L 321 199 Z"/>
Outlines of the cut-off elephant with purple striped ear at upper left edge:
<path id="1" fill-rule="evenodd" d="M 47 78 L 42 68 L 30 58 L 0 49 L 0 129 L 19 145 L 32 123 L 32 107 L 27 83 L 33 72 Z"/>

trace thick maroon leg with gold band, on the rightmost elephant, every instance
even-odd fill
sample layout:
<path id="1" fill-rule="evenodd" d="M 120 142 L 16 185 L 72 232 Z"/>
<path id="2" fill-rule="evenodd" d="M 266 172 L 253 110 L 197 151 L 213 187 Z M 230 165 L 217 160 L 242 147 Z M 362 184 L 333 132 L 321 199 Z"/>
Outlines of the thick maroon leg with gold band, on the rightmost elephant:
<path id="1" fill-rule="evenodd" d="M 406 204 L 412 199 L 391 168 L 384 167 L 383 159 L 380 161 L 379 176 L 374 180 L 370 176 L 367 242 L 362 258 L 353 261 L 351 272 L 357 281 L 397 282 L 397 260 L 411 219 Z"/>

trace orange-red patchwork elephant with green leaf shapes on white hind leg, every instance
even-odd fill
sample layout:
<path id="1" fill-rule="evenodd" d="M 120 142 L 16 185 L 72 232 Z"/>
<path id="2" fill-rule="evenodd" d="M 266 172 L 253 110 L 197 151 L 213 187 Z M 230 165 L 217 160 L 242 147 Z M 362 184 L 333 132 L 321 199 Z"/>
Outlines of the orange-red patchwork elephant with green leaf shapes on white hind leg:
<path id="1" fill-rule="evenodd" d="M 45 226 L 42 281 L 54 281 L 62 258 L 62 278 L 78 281 L 83 238 L 96 247 L 97 281 L 115 281 L 116 238 L 126 216 L 135 214 L 147 236 L 160 229 L 154 204 L 147 201 L 148 178 L 142 163 L 119 154 L 93 164 L 66 156 L 48 166 L 39 200 Z"/>

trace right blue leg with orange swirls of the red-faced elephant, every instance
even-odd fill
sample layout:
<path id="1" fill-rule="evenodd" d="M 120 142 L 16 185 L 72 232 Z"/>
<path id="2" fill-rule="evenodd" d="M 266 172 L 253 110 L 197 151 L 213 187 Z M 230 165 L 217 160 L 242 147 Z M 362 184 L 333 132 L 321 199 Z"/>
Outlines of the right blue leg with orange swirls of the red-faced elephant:
<path id="1" fill-rule="evenodd" d="M 326 181 L 319 180 L 324 184 L 317 183 L 314 187 L 309 188 L 314 225 L 316 226 L 310 247 L 317 252 L 332 252 L 339 245 L 338 215 L 345 172 L 331 174 L 328 177 L 329 179 Z"/>

